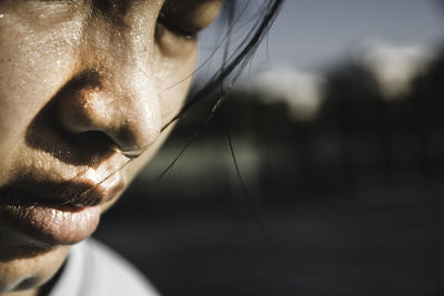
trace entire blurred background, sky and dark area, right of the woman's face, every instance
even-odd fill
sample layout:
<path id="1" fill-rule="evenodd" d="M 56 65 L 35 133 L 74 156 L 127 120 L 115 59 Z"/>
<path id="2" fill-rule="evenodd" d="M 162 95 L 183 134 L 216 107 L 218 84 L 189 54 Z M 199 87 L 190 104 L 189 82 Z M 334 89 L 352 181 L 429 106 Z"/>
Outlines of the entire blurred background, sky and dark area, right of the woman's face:
<path id="1" fill-rule="evenodd" d="M 443 295 L 443 25 L 438 0 L 286 1 L 95 237 L 165 296 Z"/>

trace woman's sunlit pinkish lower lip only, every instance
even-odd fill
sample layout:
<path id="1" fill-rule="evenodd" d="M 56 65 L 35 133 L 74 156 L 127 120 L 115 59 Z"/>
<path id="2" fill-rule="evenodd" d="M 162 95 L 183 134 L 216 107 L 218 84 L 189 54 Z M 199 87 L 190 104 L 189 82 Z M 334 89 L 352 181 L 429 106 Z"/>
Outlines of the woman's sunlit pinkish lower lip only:
<path id="1" fill-rule="evenodd" d="M 101 214 L 99 205 L 75 211 L 14 205 L 4 206 L 2 211 L 26 233 L 49 245 L 71 245 L 83 241 L 95 231 Z"/>

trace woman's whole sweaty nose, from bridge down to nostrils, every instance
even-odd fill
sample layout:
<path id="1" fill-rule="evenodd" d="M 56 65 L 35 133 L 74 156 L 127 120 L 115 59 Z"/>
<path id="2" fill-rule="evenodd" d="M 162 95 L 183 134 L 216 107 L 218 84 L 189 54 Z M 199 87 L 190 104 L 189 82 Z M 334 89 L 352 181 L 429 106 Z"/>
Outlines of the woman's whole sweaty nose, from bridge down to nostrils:
<path id="1" fill-rule="evenodd" d="M 90 27 L 80 69 L 88 79 L 75 94 L 62 100 L 61 121 L 72 132 L 103 132 L 133 157 L 158 137 L 161 112 L 150 54 L 140 54 L 147 47 L 129 35 L 128 29 L 118 30 L 104 21 Z"/>

